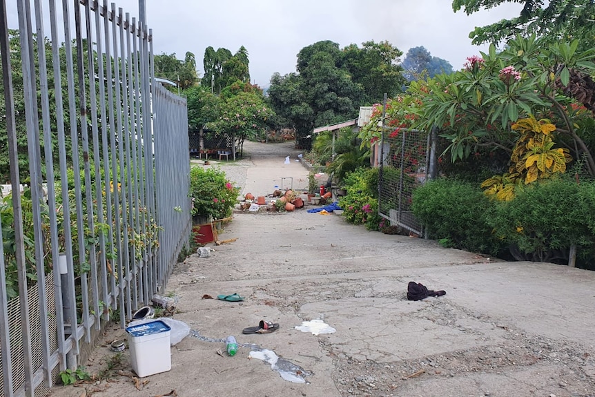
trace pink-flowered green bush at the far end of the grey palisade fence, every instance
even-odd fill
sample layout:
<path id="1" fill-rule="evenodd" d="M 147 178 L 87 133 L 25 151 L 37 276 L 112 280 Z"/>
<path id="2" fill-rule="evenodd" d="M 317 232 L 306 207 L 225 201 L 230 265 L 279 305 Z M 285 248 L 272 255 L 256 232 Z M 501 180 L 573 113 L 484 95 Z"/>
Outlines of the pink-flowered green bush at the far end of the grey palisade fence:
<path id="1" fill-rule="evenodd" d="M 192 215 L 222 219 L 231 215 L 240 189 L 229 182 L 218 168 L 194 167 L 190 171 Z"/>

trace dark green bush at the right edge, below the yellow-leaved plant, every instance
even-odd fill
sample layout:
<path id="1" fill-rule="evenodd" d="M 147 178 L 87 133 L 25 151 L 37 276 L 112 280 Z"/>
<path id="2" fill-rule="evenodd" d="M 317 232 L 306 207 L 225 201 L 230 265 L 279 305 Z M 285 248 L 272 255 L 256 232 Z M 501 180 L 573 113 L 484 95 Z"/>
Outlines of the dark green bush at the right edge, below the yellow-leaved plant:
<path id="1" fill-rule="evenodd" d="M 595 182 L 543 180 L 517 190 L 514 200 L 494 202 L 490 224 L 517 260 L 568 262 L 569 247 L 595 247 Z"/>

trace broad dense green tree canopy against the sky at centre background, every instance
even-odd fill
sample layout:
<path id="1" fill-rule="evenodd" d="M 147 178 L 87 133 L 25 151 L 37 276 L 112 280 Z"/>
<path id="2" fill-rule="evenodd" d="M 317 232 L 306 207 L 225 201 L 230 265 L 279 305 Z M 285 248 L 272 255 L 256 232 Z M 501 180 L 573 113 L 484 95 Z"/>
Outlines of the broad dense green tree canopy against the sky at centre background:
<path id="1" fill-rule="evenodd" d="M 273 75 L 269 100 L 295 126 L 298 145 L 309 148 L 313 127 L 353 119 L 360 105 L 400 91 L 400 55 L 387 42 L 341 50 L 338 43 L 319 41 L 298 53 L 298 73 Z"/>

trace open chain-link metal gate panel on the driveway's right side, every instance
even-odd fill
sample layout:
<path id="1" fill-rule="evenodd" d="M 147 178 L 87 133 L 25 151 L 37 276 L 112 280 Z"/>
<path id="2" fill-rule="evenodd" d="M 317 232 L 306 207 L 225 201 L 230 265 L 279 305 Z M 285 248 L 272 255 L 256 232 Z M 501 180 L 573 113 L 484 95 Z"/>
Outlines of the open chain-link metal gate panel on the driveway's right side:
<path id="1" fill-rule="evenodd" d="M 429 133 L 408 128 L 383 127 L 374 147 L 380 166 L 378 211 L 380 216 L 410 233 L 421 236 L 422 224 L 411 213 L 413 191 L 424 184 L 434 167 Z M 432 164 L 432 165 L 430 165 Z"/>

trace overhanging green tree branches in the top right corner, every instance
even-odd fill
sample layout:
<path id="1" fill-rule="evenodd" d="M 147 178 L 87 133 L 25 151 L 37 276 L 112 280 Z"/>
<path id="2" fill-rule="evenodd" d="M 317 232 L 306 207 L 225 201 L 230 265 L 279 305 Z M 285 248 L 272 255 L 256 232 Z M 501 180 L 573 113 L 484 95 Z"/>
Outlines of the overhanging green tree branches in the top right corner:
<path id="1" fill-rule="evenodd" d="M 452 7 L 455 12 L 464 10 L 469 15 L 507 2 L 523 4 L 518 17 L 475 28 L 469 33 L 474 44 L 498 45 L 516 35 L 531 34 L 549 43 L 579 39 L 585 50 L 595 44 L 595 2 L 592 0 L 453 0 Z"/>

